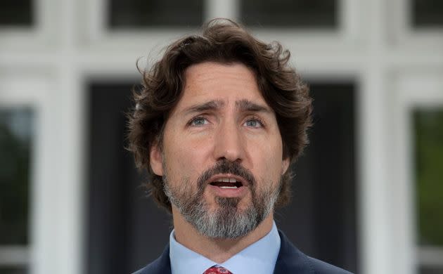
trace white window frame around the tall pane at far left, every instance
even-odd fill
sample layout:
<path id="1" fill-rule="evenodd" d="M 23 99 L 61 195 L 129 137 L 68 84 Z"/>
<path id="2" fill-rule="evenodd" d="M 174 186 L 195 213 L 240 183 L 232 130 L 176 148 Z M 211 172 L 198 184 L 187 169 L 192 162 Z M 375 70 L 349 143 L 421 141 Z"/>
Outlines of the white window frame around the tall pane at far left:
<path id="1" fill-rule="evenodd" d="M 25 266 L 38 273 L 51 271 L 58 240 L 58 197 L 56 176 L 56 126 L 51 91 L 53 75 L 48 70 L 0 66 L 0 108 L 29 107 L 32 110 L 34 136 L 30 158 L 29 244 L 0 247 L 0 266 Z M 46 272 L 48 273 L 48 272 Z"/>

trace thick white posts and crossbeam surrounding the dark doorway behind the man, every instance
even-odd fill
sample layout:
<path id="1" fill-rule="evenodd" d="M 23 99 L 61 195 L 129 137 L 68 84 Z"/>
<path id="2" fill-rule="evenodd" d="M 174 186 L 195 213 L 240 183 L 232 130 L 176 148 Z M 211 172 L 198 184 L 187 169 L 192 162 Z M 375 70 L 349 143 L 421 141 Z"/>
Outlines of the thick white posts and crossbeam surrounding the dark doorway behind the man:
<path id="1" fill-rule="evenodd" d="M 407 96 L 401 91 L 410 67 L 441 76 L 435 70 L 442 71 L 443 37 L 410 30 L 409 1 L 340 0 L 338 30 L 252 28 L 259 38 L 289 48 L 304 77 L 357 84 L 357 235 L 363 274 L 416 273 L 409 268 L 416 261 L 414 201 L 406 172 L 411 133 L 402 105 Z M 37 105 L 41 117 L 30 273 L 84 273 L 86 83 L 97 77 L 134 79 L 138 58 L 155 58 L 163 46 L 194 30 L 110 32 L 104 25 L 105 0 L 35 3 L 36 27 L 0 31 L 0 87 L 10 83 L 0 89 L 0 104 Z M 238 18 L 238 2 L 206 0 L 204 13 L 205 19 Z M 426 77 L 420 75 L 414 79 Z M 414 96 L 428 100 L 425 93 Z M 392 191 L 399 193 L 394 200 Z"/>

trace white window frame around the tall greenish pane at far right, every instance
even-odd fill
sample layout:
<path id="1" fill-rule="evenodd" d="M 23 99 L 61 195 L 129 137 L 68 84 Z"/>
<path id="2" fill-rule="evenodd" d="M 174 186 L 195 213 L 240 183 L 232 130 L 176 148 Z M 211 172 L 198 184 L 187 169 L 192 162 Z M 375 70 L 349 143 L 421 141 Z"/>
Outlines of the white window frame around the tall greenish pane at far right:
<path id="1" fill-rule="evenodd" d="M 397 261 L 404 262 L 398 273 L 418 273 L 418 267 L 443 268 L 443 248 L 418 246 L 418 218 L 415 199 L 415 158 L 413 111 L 416 109 L 443 109 L 443 65 L 423 67 L 423 70 L 404 70 L 392 77 L 394 93 L 390 124 L 395 130 L 390 143 L 392 154 L 392 244 L 402 250 L 396 253 Z M 400 266 L 399 266 L 400 267 Z"/>

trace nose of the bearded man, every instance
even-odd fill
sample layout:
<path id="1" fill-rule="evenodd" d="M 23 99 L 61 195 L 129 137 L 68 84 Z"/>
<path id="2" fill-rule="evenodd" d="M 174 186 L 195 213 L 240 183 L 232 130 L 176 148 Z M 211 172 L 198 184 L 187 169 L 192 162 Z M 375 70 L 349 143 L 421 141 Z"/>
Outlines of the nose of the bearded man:
<path id="1" fill-rule="evenodd" d="M 214 136 L 214 158 L 219 161 L 242 162 L 245 157 L 245 141 L 235 122 L 224 122 Z"/>

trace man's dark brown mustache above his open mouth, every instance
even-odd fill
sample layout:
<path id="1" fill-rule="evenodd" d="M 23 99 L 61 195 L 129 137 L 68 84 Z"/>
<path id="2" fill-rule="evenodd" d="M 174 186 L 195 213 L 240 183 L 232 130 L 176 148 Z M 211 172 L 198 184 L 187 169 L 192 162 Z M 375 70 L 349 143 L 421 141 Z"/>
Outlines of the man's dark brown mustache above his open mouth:
<path id="1" fill-rule="evenodd" d="M 240 176 L 248 182 L 251 188 L 254 188 L 255 186 L 255 177 L 252 175 L 251 171 L 242 167 L 238 162 L 229 162 L 228 160 L 223 159 L 217 162 L 214 167 L 204 171 L 203 174 L 198 177 L 197 183 L 199 190 L 204 190 L 207 180 L 216 174 L 233 174 Z"/>

